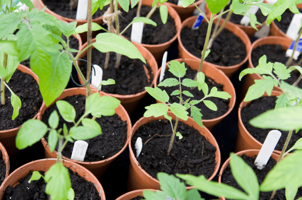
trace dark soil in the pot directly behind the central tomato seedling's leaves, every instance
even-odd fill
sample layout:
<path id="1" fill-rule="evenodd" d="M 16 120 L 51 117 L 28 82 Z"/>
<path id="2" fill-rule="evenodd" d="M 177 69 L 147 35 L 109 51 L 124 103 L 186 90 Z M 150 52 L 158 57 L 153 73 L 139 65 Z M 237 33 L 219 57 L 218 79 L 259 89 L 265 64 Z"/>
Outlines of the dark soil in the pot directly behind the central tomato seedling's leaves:
<path id="1" fill-rule="evenodd" d="M 188 67 L 186 64 L 185 64 L 185 68 L 187 68 L 186 70 L 186 74 L 184 77 L 181 78 L 181 81 L 183 79 L 194 79 L 195 76 L 196 76 L 196 71 L 195 70 L 192 70 L 190 67 Z M 167 78 L 176 78 L 171 72 L 169 72 L 168 70 L 165 71 L 165 76 L 164 76 L 164 79 L 167 79 Z M 213 79 L 209 78 L 206 76 L 205 78 L 205 82 L 207 83 L 208 87 L 209 87 L 209 91 L 211 91 L 211 89 L 213 87 L 217 87 L 217 90 L 218 91 L 223 91 L 222 87 L 223 85 L 215 82 Z M 159 84 L 159 79 L 157 81 L 157 85 Z M 159 87 L 160 89 L 162 90 L 165 90 L 167 92 L 167 94 L 171 94 L 174 90 L 179 90 L 179 85 L 178 86 L 172 86 L 172 87 L 164 87 L 164 86 L 160 86 Z M 190 87 L 186 87 L 186 86 L 183 86 L 182 85 L 182 91 L 183 90 L 187 90 L 189 92 L 191 92 L 192 95 L 194 95 L 194 97 L 191 98 L 191 100 L 195 99 L 195 100 L 199 100 L 199 99 L 202 99 L 204 98 L 204 93 L 201 91 L 198 90 L 198 87 L 195 87 L 193 90 L 190 88 Z M 182 98 L 184 100 L 187 100 L 189 97 L 186 96 L 186 95 L 182 95 Z M 222 115 L 224 115 L 228 110 L 229 110 L 229 102 L 230 100 L 229 99 L 222 99 L 222 98 L 215 98 L 215 97 L 209 97 L 209 98 L 206 98 L 205 100 L 210 100 L 212 102 L 215 103 L 215 105 L 217 106 L 217 111 L 213 111 L 211 110 L 210 108 L 208 108 L 204 103 L 199 103 L 197 104 L 196 106 L 201 109 L 201 114 L 203 115 L 202 116 L 202 119 L 214 119 L 214 118 L 217 118 L 217 117 L 220 117 Z M 170 100 L 169 100 L 170 103 L 178 103 L 179 102 L 179 99 L 176 97 L 176 95 L 172 95 L 170 96 Z M 189 113 L 191 113 L 190 109 L 187 110 Z M 190 116 L 190 114 L 189 114 Z"/>

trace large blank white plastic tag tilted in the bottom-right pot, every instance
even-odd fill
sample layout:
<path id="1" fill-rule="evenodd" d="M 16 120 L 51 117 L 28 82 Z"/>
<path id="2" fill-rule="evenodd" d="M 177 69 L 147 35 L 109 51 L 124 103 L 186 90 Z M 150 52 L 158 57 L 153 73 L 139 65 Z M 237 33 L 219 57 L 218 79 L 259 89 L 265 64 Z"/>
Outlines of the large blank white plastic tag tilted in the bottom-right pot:
<path id="1" fill-rule="evenodd" d="M 258 169 L 263 169 L 271 157 L 279 139 L 281 137 L 281 132 L 278 130 L 269 131 L 264 143 L 258 153 L 258 156 L 254 162 Z"/>

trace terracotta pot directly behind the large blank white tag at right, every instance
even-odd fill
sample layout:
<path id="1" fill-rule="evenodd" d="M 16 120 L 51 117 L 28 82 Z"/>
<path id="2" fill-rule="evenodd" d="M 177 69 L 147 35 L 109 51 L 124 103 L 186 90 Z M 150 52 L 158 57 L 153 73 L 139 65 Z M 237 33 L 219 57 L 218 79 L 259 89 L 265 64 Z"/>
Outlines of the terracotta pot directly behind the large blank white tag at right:
<path id="1" fill-rule="evenodd" d="M 282 92 L 279 91 L 272 91 L 271 96 L 279 96 Z M 268 96 L 265 92 L 263 96 Z M 244 127 L 242 119 L 241 119 L 241 110 L 244 106 L 248 105 L 250 102 L 241 102 L 238 109 L 238 137 L 236 140 L 235 152 L 248 150 L 248 149 L 261 149 L 262 143 L 256 140 Z M 274 153 L 280 155 L 281 151 L 274 150 Z"/>

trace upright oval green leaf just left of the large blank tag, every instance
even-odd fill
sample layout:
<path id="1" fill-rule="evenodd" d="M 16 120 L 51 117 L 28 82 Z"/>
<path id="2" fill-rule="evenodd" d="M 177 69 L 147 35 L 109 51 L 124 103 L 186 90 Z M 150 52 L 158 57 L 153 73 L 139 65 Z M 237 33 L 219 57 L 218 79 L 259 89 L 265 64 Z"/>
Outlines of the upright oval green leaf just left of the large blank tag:
<path id="1" fill-rule="evenodd" d="M 240 185 L 252 199 L 259 199 L 259 183 L 254 170 L 236 154 L 231 156 L 230 167 L 238 185 Z M 242 176 L 243 173 L 244 176 Z"/>

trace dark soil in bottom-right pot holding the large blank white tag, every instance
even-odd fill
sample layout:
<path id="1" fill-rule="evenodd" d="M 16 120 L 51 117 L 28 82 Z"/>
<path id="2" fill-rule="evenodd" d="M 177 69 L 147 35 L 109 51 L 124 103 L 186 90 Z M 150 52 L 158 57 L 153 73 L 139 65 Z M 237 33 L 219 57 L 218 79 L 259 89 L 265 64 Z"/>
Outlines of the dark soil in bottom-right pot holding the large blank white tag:
<path id="1" fill-rule="evenodd" d="M 263 180 L 265 179 L 265 176 L 267 175 L 267 173 L 275 166 L 276 161 L 270 157 L 270 159 L 268 160 L 268 163 L 265 165 L 265 167 L 263 169 L 258 169 L 257 166 L 254 164 L 255 162 L 255 158 L 250 158 L 249 156 L 246 156 L 246 154 L 243 154 L 242 156 L 240 156 L 250 167 L 252 167 L 252 169 L 254 170 L 255 174 L 257 175 L 258 178 L 258 182 L 259 185 L 263 182 Z M 243 174 L 242 174 L 243 175 Z M 238 185 L 238 183 L 236 182 L 236 180 L 234 179 L 232 172 L 231 172 L 231 168 L 230 165 L 228 165 L 226 167 L 226 169 L 223 170 L 223 174 L 221 176 L 221 182 L 225 183 L 227 185 L 233 186 L 236 189 L 239 189 L 241 191 L 243 191 L 243 189 L 241 189 L 241 187 Z M 267 200 L 270 199 L 271 197 L 271 193 L 272 192 L 260 192 L 259 194 L 259 200 Z M 297 195 L 294 199 L 297 199 L 298 197 L 302 196 L 302 189 L 299 188 Z M 286 199 L 285 198 L 285 189 L 281 189 L 281 190 L 277 190 L 275 197 L 273 199 Z"/>

